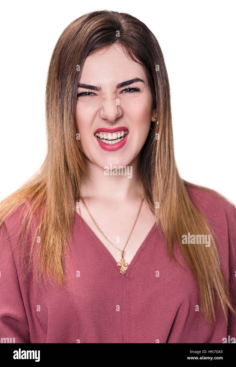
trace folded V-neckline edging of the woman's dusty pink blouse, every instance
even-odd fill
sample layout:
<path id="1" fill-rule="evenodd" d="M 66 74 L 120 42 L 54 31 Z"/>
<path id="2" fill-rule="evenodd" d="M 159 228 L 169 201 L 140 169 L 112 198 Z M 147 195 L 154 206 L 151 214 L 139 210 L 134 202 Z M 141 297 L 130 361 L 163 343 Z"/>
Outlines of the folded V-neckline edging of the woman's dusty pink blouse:
<path id="1" fill-rule="evenodd" d="M 85 222 L 84 219 L 81 218 L 81 216 L 79 215 L 79 213 L 75 210 L 75 218 L 78 218 L 79 222 L 82 223 L 86 229 L 86 231 L 92 236 L 93 240 L 99 245 L 100 249 L 103 251 L 103 253 L 108 256 L 110 258 L 111 263 L 115 266 L 115 268 L 118 270 L 119 272 L 119 268 L 117 266 L 117 261 L 115 260 L 115 258 L 111 255 L 110 251 L 107 250 L 106 246 L 104 246 L 104 244 L 100 241 L 100 239 L 95 235 L 95 233 L 93 232 L 93 230 L 90 228 L 90 226 Z M 154 231 L 156 229 L 156 222 L 154 223 L 154 225 L 152 226 L 152 228 L 150 229 L 149 233 L 147 234 L 147 236 L 145 237 L 144 241 L 142 242 L 142 244 L 139 246 L 136 254 L 134 255 L 134 257 L 132 258 L 132 260 L 130 261 L 129 266 L 126 268 L 126 273 L 125 276 L 127 277 L 127 273 L 130 273 L 130 270 L 133 268 L 133 265 L 136 263 L 137 259 L 139 258 L 139 256 L 141 255 L 141 253 L 143 252 L 144 248 L 146 247 L 147 243 L 149 242 L 151 236 L 153 235 Z"/>

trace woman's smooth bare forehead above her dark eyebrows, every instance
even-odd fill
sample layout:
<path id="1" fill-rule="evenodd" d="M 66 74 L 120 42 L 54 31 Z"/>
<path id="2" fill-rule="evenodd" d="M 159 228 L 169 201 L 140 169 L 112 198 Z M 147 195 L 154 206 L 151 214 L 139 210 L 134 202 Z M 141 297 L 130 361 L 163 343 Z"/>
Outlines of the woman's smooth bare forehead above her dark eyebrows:
<path id="1" fill-rule="evenodd" d="M 145 70 L 139 63 L 130 60 L 121 46 L 112 45 L 108 49 L 87 56 L 79 82 L 101 86 L 113 85 L 133 77 L 146 80 Z"/>

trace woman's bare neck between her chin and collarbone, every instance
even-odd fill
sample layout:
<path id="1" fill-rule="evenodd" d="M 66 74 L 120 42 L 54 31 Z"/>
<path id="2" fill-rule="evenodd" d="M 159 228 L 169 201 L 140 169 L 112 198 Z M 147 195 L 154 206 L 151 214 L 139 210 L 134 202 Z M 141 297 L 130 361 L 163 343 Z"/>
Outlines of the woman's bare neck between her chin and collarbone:
<path id="1" fill-rule="evenodd" d="M 110 168 L 110 165 L 108 165 Z M 112 167 L 114 167 L 112 165 Z M 96 197 L 102 200 L 128 200 L 142 197 L 142 183 L 139 178 L 139 157 L 130 163 L 129 175 L 104 174 L 104 168 L 87 161 L 87 177 L 81 183 L 81 196 L 83 198 Z M 132 167 L 132 171 L 131 171 Z M 118 168 L 118 166 L 117 166 Z M 114 170 L 112 170 L 114 171 Z M 132 173 L 132 174 L 130 174 Z"/>

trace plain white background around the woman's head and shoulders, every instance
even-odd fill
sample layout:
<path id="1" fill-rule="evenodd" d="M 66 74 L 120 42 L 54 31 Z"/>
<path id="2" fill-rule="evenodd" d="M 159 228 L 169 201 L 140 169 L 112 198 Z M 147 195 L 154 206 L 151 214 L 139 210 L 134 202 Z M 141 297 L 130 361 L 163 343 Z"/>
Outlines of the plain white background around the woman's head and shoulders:
<path id="1" fill-rule="evenodd" d="M 2 3 L 0 200 L 46 155 L 46 75 L 60 34 L 81 15 L 104 9 L 133 15 L 157 37 L 180 176 L 236 203 L 235 1 L 229 0 Z"/>

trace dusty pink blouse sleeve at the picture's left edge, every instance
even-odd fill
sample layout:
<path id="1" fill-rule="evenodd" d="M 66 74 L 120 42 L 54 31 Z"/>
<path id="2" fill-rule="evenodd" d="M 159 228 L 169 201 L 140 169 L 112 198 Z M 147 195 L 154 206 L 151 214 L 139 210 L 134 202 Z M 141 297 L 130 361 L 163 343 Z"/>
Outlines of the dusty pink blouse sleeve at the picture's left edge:
<path id="1" fill-rule="evenodd" d="M 30 343 L 29 324 L 5 223 L 0 228 L 0 342 Z"/>

